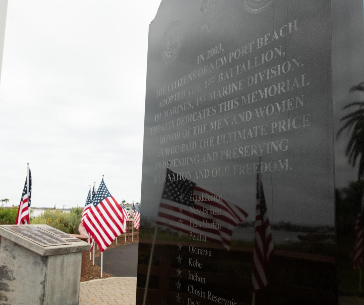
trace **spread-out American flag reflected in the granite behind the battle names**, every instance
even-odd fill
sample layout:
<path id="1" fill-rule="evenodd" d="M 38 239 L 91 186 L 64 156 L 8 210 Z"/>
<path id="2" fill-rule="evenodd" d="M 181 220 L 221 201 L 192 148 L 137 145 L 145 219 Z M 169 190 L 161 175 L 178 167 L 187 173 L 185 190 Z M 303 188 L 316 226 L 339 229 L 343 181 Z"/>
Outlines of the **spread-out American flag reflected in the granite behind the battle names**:
<path id="1" fill-rule="evenodd" d="M 157 224 L 186 234 L 201 234 L 206 241 L 230 250 L 233 230 L 248 214 L 194 182 L 182 180 L 170 169 L 166 179 Z"/>

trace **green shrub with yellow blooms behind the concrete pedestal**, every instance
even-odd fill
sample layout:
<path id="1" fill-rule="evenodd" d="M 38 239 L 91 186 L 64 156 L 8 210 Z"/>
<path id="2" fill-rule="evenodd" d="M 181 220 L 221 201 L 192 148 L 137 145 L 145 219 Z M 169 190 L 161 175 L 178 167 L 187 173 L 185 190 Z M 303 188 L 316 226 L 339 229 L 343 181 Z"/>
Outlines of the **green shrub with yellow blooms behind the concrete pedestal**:
<path id="1" fill-rule="evenodd" d="M 70 213 L 59 210 L 46 210 L 42 215 L 32 218 L 30 224 L 48 224 L 70 234 L 79 234 L 78 226 L 81 221 L 83 208 L 73 208 Z"/>

